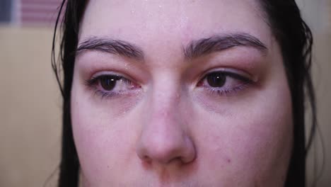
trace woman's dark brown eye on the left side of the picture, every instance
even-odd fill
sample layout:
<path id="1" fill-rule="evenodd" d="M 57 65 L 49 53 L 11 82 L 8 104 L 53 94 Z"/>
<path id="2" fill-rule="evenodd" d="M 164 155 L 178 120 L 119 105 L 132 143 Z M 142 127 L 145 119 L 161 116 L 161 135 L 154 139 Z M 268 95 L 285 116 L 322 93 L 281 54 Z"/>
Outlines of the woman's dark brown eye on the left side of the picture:
<path id="1" fill-rule="evenodd" d="M 127 78 L 115 74 L 103 74 L 86 81 L 86 85 L 95 90 L 102 98 L 129 94 L 140 88 Z"/>

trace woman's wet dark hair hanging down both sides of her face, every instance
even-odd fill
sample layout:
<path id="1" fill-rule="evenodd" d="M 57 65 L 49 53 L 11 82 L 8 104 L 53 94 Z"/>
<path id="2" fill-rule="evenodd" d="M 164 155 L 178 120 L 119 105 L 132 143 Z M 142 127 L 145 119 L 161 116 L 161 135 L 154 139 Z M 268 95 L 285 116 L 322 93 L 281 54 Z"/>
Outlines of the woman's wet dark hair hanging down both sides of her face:
<path id="1" fill-rule="evenodd" d="M 294 0 L 259 1 L 262 10 L 265 11 L 266 21 L 281 47 L 291 91 L 294 146 L 285 186 L 306 186 L 306 156 L 317 125 L 315 96 L 310 76 L 313 36 L 310 28 L 301 18 L 301 13 Z M 79 159 L 71 128 L 70 92 L 74 74 L 75 51 L 78 45 L 79 23 L 86 3 L 87 1 L 81 0 L 63 0 L 54 28 L 52 67 L 63 96 L 62 160 L 59 174 L 59 186 L 61 187 L 79 185 Z M 65 8 L 63 17 L 62 8 Z M 62 40 L 60 63 L 57 63 L 54 46 L 59 23 L 61 23 Z M 309 101 L 312 111 L 312 125 L 307 141 L 305 137 L 305 101 Z"/>

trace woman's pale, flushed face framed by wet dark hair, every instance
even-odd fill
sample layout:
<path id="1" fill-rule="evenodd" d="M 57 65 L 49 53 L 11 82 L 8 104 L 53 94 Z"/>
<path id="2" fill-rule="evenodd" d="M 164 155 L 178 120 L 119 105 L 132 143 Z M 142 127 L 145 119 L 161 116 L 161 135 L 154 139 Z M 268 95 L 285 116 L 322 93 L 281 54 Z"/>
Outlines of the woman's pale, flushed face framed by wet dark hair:
<path id="1" fill-rule="evenodd" d="M 71 118 L 84 186 L 282 186 L 292 113 L 256 1 L 89 1 Z"/>

